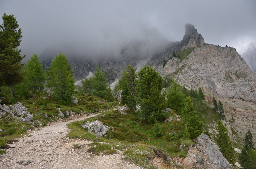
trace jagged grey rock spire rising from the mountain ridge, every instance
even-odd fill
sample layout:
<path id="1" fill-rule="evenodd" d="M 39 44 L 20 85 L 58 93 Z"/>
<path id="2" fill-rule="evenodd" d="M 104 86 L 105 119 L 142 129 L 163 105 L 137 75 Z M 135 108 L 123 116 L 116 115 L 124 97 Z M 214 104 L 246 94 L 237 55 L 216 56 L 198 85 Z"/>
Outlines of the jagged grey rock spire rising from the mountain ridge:
<path id="1" fill-rule="evenodd" d="M 197 33 L 197 30 L 194 25 L 186 24 L 185 26 L 186 32 L 181 40 L 182 48 L 192 48 L 196 47 L 197 45 L 204 44 L 204 38 L 201 34 Z"/>

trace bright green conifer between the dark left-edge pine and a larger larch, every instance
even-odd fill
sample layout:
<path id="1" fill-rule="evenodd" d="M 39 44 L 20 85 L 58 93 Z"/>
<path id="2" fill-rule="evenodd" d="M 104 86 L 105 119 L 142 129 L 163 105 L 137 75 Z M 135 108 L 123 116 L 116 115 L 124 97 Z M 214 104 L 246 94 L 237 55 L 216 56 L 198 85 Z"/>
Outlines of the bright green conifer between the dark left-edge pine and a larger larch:
<path id="1" fill-rule="evenodd" d="M 36 54 L 28 60 L 26 66 L 26 74 L 24 76 L 24 83 L 28 87 L 33 97 L 36 97 L 36 91 L 44 89 L 44 72 L 41 63 Z"/>

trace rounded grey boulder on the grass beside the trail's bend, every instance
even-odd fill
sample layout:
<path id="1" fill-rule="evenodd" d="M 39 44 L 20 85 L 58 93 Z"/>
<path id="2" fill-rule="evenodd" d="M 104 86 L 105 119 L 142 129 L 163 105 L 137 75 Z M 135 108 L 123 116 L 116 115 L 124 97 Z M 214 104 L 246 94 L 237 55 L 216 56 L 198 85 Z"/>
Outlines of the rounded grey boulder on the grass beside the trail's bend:
<path id="1" fill-rule="evenodd" d="M 108 129 L 108 126 L 96 120 L 96 121 L 92 121 L 88 125 L 88 131 L 96 136 L 102 137 L 106 135 L 109 129 Z"/>

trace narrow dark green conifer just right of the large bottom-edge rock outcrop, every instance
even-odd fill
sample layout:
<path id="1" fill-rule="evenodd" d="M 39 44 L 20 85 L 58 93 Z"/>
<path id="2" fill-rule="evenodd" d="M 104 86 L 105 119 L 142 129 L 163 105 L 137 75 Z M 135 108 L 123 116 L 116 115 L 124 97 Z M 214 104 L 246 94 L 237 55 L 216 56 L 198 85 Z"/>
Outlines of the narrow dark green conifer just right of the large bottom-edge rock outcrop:
<path id="1" fill-rule="evenodd" d="M 217 144 L 220 148 L 220 152 L 228 160 L 229 163 L 234 164 L 235 161 L 235 150 L 233 148 L 232 142 L 228 136 L 228 129 L 222 124 L 221 121 L 217 121 Z"/>

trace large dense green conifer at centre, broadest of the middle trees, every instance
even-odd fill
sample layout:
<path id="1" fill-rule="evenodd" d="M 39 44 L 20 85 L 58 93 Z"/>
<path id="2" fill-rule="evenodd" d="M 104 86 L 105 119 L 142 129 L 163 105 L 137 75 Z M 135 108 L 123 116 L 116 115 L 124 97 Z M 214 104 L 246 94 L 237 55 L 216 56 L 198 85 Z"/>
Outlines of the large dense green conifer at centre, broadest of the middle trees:
<path id="1" fill-rule="evenodd" d="M 137 103 L 140 105 L 139 116 L 148 122 L 164 120 L 165 100 L 161 95 L 162 77 L 150 66 L 143 67 L 138 73 L 135 88 Z"/>

